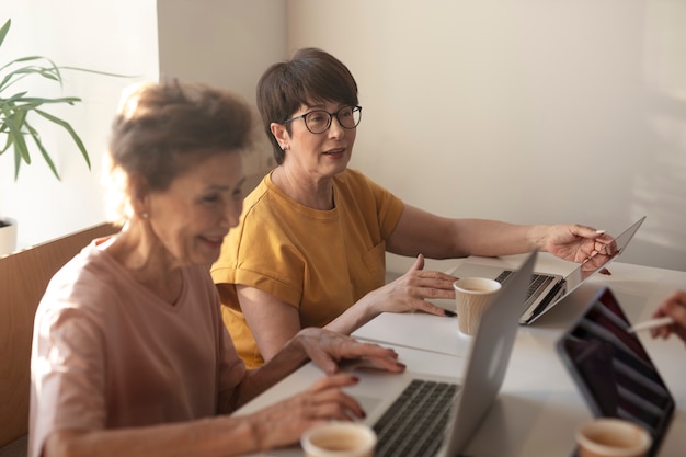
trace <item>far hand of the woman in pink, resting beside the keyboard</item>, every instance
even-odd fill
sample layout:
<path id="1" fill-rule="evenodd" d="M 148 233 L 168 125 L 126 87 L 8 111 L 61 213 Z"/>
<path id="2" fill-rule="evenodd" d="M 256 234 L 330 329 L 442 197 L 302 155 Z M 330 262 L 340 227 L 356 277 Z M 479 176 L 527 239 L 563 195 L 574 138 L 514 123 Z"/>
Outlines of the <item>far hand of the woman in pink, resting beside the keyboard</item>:
<path id="1" fill-rule="evenodd" d="M 398 362 L 398 354 L 392 349 L 378 344 L 362 343 L 353 338 L 324 329 L 307 328 L 296 335 L 307 356 L 324 373 L 332 375 L 339 370 L 339 362 L 365 358 L 379 368 L 400 373 L 405 366 Z"/>

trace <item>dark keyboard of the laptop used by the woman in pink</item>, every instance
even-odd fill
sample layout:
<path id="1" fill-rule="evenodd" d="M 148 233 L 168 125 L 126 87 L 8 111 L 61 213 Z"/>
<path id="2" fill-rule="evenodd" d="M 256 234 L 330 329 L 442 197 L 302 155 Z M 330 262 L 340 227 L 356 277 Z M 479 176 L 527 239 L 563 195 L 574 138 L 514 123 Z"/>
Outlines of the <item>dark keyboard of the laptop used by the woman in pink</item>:
<path id="1" fill-rule="evenodd" d="M 443 443 L 459 386 L 414 379 L 374 425 L 375 457 L 428 457 Z"/>

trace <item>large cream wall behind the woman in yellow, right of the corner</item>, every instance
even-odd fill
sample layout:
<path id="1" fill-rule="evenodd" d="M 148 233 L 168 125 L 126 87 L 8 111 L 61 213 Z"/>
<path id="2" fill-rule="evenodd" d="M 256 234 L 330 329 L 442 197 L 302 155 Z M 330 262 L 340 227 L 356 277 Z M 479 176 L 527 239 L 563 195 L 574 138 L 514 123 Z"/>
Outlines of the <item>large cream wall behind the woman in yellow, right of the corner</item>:
<path id="1" fill-rule="evenodd" d="M 622 261 L 686 270 L 686 2 L 288 5 L 289 54 L 359 85 L 352 165 L 405 202 L 613 233 L 648 215 Z"/>

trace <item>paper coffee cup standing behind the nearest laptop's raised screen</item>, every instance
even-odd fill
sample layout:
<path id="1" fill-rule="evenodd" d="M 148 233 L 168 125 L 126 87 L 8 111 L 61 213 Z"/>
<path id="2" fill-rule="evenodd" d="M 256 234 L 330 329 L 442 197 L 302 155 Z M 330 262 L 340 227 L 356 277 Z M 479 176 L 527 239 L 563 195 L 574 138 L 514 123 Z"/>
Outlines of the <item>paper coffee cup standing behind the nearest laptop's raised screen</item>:
<path id="1" fill-rule="evenodd" d="M 501 289 L 501 284 L 487 277 L 462 277 L 453 283 L 457 325 L 461 333 L 473 335 L 487 305 Z"/>

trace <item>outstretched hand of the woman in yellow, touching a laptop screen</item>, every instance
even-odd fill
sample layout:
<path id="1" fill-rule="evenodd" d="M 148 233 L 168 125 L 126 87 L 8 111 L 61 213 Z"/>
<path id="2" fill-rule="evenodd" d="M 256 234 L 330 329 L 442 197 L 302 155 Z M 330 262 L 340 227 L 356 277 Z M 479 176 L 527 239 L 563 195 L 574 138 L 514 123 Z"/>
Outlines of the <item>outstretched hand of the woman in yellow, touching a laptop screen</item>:
<path id="1" fill-rule="evenodd" d="M 544 250 L 560 259 L 587 265 L 582 270 L 594 271 L 617 255 L 615 239 L 591 227 L 557 225 L 550 228 L 544 241 Z M 608 271 L 602 273 L 608 274 Z"/>

